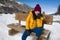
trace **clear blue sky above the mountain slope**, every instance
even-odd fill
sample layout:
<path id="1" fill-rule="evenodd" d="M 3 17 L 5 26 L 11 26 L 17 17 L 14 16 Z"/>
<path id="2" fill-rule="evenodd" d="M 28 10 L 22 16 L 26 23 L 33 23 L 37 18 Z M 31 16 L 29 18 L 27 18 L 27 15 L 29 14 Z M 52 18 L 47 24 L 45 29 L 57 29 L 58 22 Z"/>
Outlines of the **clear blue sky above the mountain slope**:
<path id="1" fill-rule="evenodd" d="M 56 13 L 58 6 L 60 5 L 60 0 L 18 0 L 30 7 L 35 7 L 36 4 L 41 6 L 42 12 L 45 11 L 47 14 Z"/>

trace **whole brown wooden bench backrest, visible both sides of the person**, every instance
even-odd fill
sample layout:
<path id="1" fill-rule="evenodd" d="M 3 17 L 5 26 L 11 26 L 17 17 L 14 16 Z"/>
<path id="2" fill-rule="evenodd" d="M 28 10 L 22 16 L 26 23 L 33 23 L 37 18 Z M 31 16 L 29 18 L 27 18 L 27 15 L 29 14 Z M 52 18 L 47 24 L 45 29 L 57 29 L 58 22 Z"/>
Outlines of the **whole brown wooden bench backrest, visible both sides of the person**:
<path id="1" fill-rule="evenodd" d="M 20 21 L 25 21 L 27 16 L 28 16 L 27 13 L 26 14 L 24 14 L 24 13 L 17 13 L 16 16 L 15 16 L 15 19 L 19 20 L 19 23 L 20 23 Z M 45 16 L 46 24 L 50 24 L 51 25 L 52 22 L 53 22 L 53 16 L 51 16 L 51 15 L 44 15 L 44 16 Z"/>

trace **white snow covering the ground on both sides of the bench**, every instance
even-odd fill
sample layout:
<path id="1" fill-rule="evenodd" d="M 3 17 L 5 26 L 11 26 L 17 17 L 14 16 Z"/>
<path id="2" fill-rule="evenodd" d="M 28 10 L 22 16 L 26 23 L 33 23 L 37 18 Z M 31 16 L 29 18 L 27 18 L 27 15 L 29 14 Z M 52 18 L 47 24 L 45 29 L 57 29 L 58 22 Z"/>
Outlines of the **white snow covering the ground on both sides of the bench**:
<path id="1" fill-rule="evenodd" d="M 11 23 L 18 23 L 17 20 L 15 20 L 15 14 L 0 14 L 0 40 L 21 40 L 23 33 L 18 33 L 14 36 L 8 35 L 8 30 L 10 28 L 7 27 L 7 24 Z M 54 17 L 55 20 L 55 17 Z M 60 40 L 60 24 L 57 22 L 53 22 L 52 25 L 46 25 L 44 26 L 45 29 L 50 30 L 50 38 L 49 40 Z M 32 40 L 33 36 L 29 36 L 27 40 Z"/>

